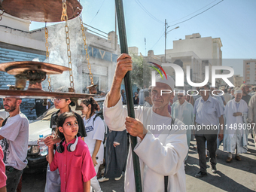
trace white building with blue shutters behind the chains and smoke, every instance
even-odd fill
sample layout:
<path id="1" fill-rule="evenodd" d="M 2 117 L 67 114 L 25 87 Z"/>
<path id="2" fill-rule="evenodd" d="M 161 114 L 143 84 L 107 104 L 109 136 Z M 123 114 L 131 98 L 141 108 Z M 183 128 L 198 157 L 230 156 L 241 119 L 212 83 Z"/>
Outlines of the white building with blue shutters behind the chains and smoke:
<path id="1" fill-rule="evenodd" d="M 29 31 L 30 23 L 30 21 L 3 14 L 0 21 L 0 63 L 31 61 L 35 57 L 44 61 L 46 58 L 44 28 Z M 64 23 L 47 26 L 47 28 L 49 62 L 69 66 Z M 84 28 L 94 84 L 98 85 L 99 91 L 107 91 L 111 87 L 117 56 L 120 54 L 117 35 L 115 32 L 105 33 L 86 26 Z M 90 85 L 90 78 L 79 18 L 69 21 L 69 38 L 75 90 L 76 93 L 84 93 L 87 92 L 84 87 Z M 51 79 L 53 90 L 63 85 L 69 87 L 69 72 L 64 72 L 62 75 L 51 75 Z M 7 84 L 15 84 L 14 76 L 0 72 L 0 89 L 8 89 Z M 45 90 L 47 90 L 47 81 L 43 82 L 43 87 L 46 87 Z M 23 99 L 21 108 L 29 119 L 35 117 L 35 114 L 29 110 L 33 105 L 34 99 Z"/>

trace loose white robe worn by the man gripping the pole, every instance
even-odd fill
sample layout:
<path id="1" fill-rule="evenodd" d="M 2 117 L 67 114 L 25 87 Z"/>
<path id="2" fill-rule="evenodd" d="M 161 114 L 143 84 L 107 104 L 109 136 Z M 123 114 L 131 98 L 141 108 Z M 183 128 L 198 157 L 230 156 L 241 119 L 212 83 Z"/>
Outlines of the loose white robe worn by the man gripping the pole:
<path id="1" fill-rule="evenodd" d="M 123 108 L 121 100 L 117 105 L 111 108 L 108 106 L 108 95 L 104 103 L 104 119 L 110 130 L 125 130 L 125 118 L 127 109 Z M 145 114 L 145 115 L 143 115 Z M 155 114 L 152 108 L 143 108 L 139 106 L 135 110 L 136 118 L 139 119 L 145 127 L 147 125 L 163 124 L 163 120 L 169 120 L 169 117 L 163 117 Z M 169 118 L 169 119 L 168 119 Z M 159 119 L 159 122 L 153 120 Z M 175 120 L 174 125 L 180 127 L 183 123 Z M 154 132 L 154 131 L 153 131 Z M 186 177 L 184 172 L 184 158 L 187 155 L 187 141 L 185 130 L 163 130 L 160 134 L 153 134 L 150 131 L 141 141 L 137 137 L 135 153 L 139 156 L 142 190 L 145 192 L 163 192 L 164 176 L 169 175 L 168 191 L 186 191 Z M 124 190 L 126 192 L 136 191 L 132 149 L 128 154 L 126 165 Z"/>

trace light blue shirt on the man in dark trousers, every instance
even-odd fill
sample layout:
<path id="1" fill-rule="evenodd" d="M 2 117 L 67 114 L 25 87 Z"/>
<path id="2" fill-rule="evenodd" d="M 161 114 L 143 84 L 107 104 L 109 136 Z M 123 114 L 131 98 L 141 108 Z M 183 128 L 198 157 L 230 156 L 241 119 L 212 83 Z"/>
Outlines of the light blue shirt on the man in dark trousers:
<path id="1" fill-rule="evenodd" d="M 217 125 L 218 117 L 224 114 L 224 110 L 220 102 L 212 96 L 209 96 L 206 102 L 200 97 L 195 102 L 194 114 L 196 122 L 201 125 Z"/>

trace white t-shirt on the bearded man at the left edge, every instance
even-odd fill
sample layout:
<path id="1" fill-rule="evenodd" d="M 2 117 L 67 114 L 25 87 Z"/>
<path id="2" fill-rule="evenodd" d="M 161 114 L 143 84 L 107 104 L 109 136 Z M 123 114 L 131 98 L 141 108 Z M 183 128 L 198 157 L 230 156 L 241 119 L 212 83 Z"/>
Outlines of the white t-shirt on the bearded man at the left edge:
<path id="1" fill-rule="evenodd" d="M 26 154 L 29 142 L 29 120 L 23 113 L 9 117 L 0 130 L 0 141 L 4 152 L 5 166 L 23 170 L 26 167 Z"/>

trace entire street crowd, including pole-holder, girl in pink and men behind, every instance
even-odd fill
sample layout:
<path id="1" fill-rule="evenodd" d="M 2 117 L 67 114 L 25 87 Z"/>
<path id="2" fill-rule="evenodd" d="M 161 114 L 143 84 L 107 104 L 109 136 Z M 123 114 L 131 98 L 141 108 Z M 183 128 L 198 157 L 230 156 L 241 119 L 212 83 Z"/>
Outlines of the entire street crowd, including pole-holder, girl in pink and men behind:
<path id="1" fill-rule="evenodd" d="M 119 180 L 125 172 L 124 190 L 134 192 L 133 151 L 139 157 L 143 191 L 186 191 L 184 167 L 194 138 L 200 165 L 197 178 L 207 175 L 208 152 L 212 173 L 217 172 L 216 152 L 221 142 L 227 163 L 233 160 L 233 154 L 236 160 L 242 160 L 239 154 L 247 151 L 248 134 L 253 133 L 256 122 L 255 87 L 250 92 L 247 85 L 232 89 L 206 84 L 197 87 L 197 96 L 186 95 L 183 90 L 175 95 L 163 94 L 162 90 L 174 90 L 175 81 L 169 75 L 157 75 L 156 86 L 149 88 L 144 106 L 136 107 L 135 118 L 128 117 L 125 92 L 120 87 L 126 72 L 132 70 L 132 62 L 127 54 L 117 59 L 103 105 L 105 122 L 97 115 L 99 105 L 92 97 L 82 100 L 81 115 L 72 111 L 75 104 L 70 98 L 53 100 L 58 111 L 50 119 L 52 135 L 44 139 L 48 146 L 44 191 L 100 192 L 100 182 Z M 88 89 L 97 93 L 95 85 Z M 138 93 L 134 94 L 135 105 L 139 104 Z M 0 192 L 18 191 L 27 164 L 29 121 L 20 112 L 21 102 L 19 97 L 3 99 L 8 115 L 0 116 Z M 43 100 L 35 102 L 39 105 Z M 133 150 L 129 135 L 137 138 Z M 98 180 L 103 163 L 105 172 Z"/>

